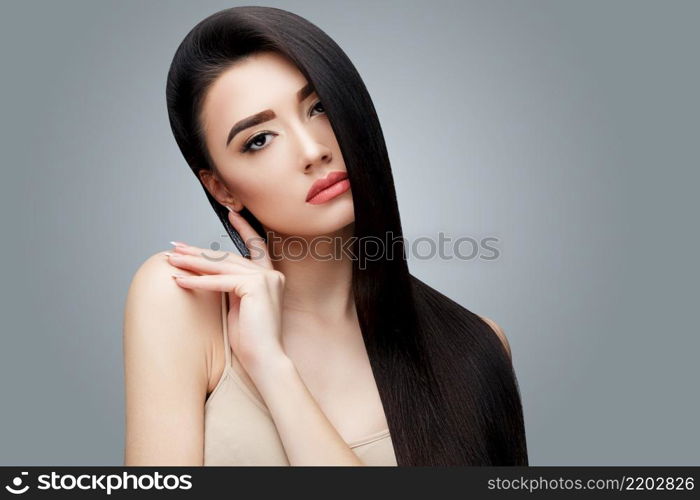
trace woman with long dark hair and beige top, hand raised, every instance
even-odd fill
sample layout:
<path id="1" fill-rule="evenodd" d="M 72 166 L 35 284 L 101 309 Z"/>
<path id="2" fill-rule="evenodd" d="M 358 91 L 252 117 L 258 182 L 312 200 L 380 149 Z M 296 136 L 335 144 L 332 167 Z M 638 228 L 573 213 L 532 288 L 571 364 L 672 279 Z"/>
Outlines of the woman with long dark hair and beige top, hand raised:
<path id="1" fill-rule="evenodd" d="M 175 242 L 136 272 L 125 464 L 527 465 L 505 335 L 408 272 L 379 121 L 335 42 L 223 10 L 166 93 L 242 255 Z"/>

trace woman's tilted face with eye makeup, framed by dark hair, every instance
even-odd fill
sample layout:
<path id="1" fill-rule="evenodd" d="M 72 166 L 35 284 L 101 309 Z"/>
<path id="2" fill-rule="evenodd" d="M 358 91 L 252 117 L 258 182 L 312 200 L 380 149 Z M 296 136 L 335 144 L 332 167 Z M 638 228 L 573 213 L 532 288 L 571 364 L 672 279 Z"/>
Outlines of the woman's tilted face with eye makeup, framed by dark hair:
<path id="1" fill-rule="evenodd" d="M 284 56 L 257 53 L 217 78 L 201 110 L 221 177 L 206 172 L 202 182 L 220 203 L 246 207 L 280 235 L 332 234 L 355 220 L 350 190 L 325 203 L 306 201 L 314 181 L 346 172 L 323 103 L 313 89 L 302 91 L 307 83 Z M 265 110 L 264 121 L 243 124 L 227 143 L 236 124 Z"/>

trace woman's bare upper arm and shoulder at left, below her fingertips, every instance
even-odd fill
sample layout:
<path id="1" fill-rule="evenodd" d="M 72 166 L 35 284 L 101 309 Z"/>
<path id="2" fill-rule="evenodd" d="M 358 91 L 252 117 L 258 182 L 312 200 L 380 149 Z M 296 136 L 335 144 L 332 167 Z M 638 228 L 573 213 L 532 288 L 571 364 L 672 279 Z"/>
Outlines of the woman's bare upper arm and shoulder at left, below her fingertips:
<path id="1" fill-rule="evenodd" d="M 179 289 L 171 269 L 162 255 L 151 256 L 135 273 L 126 299 L 126 466 L 203 463 L 207 365 L 197 334 L 205 324 L 207 292 Z"/>

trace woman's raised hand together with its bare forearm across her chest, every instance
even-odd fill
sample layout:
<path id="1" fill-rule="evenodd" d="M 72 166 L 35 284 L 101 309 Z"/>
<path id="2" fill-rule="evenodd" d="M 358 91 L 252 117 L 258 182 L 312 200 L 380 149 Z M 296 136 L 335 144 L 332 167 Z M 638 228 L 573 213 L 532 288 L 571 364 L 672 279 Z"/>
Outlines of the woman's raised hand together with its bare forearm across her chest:
<path id="1" fill-rule="evenodd" d="M 243 241 L 258 236 L 237 213 L 229 213 L 229 220 Z M 207 259 L 201 248 L 176 246 L 169 260 L 179 268 L 203 274 L 177 278 L 181 287 L 228 292 L 229 342 L 265 400 L 290 465 L 364 465 L 323 413 L 282 348 L 284 275 L 272 267 L 267 248 L 264 250 L 256 261 L 233 254 L 218 260 Z"/>

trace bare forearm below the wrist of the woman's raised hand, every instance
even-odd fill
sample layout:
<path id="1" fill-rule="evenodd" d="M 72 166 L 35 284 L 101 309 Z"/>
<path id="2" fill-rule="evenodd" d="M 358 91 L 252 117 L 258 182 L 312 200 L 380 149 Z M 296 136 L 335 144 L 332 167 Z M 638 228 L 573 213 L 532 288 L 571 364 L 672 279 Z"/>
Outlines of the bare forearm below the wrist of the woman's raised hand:
<path id="1" fill-rule="evenodd" d="M 248 374 L 265 400 L 290 465 L 364 465 L 330 423 L 286 356 Z"/>

